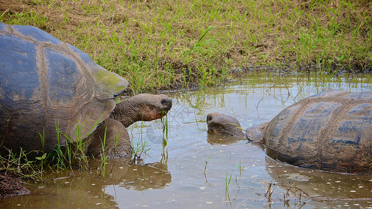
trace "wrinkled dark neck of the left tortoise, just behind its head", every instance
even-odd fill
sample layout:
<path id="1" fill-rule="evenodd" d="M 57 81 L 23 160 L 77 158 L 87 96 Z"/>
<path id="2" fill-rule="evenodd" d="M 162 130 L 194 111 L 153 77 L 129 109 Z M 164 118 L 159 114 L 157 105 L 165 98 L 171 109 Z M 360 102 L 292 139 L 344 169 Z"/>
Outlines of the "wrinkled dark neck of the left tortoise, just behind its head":
<path id="1" fill-rule="evenodd" d="M 110 118 L 119 121 L 125 127 L 128 127 L 129 125 L 141 120 L 139 104 L 131 101 L 131 99 L 124 100 L 117 104 L 110 114 Z"/>

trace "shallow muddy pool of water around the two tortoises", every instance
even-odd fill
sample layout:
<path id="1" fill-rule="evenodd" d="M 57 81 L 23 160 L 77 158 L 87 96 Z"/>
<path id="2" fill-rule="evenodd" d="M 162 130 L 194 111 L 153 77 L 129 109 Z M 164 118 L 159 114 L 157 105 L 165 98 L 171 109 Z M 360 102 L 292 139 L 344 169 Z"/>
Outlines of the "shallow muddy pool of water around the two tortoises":
<path id="1" fill-rule="evenodd" d="M 98 167 L 91 172 L 54 171 L 43 183 L 29 183 L 32 194 L 2 199 L 0 206 L 372 208 L 371 177 L 278 163 L 261 146 L 207 134 L 205 123 L 209 112 L 218 111 L 237 117 L 242 127 L 260 124 L 309 95 L 332 88 L 371 91 L 371 81 L 370 75 L 329 80 L 246 75 L 223 87 L 175 93 L 165 147 L 160 121 L 129 128 L 133 141 L 146 141 L 151 148 L 142 154 L 141 164 L 108 162 L 105 178 Z"/>

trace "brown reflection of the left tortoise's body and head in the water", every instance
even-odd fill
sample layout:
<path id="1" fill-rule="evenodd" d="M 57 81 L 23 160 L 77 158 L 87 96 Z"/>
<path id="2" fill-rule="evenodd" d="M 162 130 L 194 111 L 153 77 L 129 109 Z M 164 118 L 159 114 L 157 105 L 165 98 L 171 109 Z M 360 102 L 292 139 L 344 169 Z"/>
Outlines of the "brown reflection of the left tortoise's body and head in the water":
<path id="1" fill-rule="evenodd" d="M 172 177 L 162 162 L 131 164 L 127 160 L 109 161 L 106 164 L 105 178 L 96 171 L 61 171 L 47 176 L 44 183 L 31 187 L 32 195 L 15 199 L 3 199 L 3 203 L 26 208 L 95 208 L 97 206 L 117 206 L 115 196 L 106 191 L 119 187 L 125 189 L 163 189 L 170 184 Z M 0 205 L 1 206 L 1 205 Z"/>

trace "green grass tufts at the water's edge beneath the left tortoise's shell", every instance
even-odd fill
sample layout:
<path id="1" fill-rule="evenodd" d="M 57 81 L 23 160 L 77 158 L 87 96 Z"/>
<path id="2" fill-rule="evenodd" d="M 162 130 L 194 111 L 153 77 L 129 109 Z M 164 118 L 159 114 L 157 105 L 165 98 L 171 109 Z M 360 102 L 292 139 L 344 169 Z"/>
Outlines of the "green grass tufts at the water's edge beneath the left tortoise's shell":
<path id="1" fill-rule="evenodd" d="M 87 121 L 89 118 L 87 118 Z M 54 170 L 66 170 L 80 169 L 89 171 L 91 170 L 91 162 L 96 160 L 92 156 L 86 155 L 86 145 L 89 143 L 87 138 L 88 134 L 82 134 L 84 127 L 87 125 L 87 121 L 80 121 L 75 124 L 75 130 L 73 133 L 67 134 L 59 130 L 59 124 L 55 121 L 56 133 L 57 133 L 57 144 L 55 144 L 52 150 L 45 152 L 44 150 L 34 150 L 30 153 L 25 153 L 23 150 L 20 153 L 13 153 L 9 151 L 8 155 L 0 156 L 0 173 L 10 173 L 10 175 L 17 176 L 20 178 L 33 178 L 34 180 L 44 180 L 43 173 Z M 99 121 L 99 118 L 98 118 Z M 98 121 L 95 121 L 91 129 L 93 129 Z M 91 132 L 91 130 L 89 130 Z M 89 133 L 88 132 L 88 133 Z M 39 132 L 40 140 L 42 145 L 45 142 L 45 130 Z M 61 136 L 66 137 L 66 144 L 61 143 Z M 105 164 L 109 153 L 107 153 L 106 133 L 102 141 L 101 151 L 101 166 L 100 176 L 102 174 L 105 177 Z M 119 136 L 114 141 L 114 149 L 117 148 L 119 142 Z M 31 157 L 30 157 L 31 155 Z"/>

